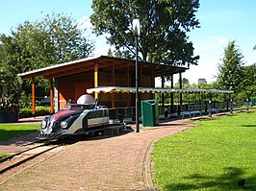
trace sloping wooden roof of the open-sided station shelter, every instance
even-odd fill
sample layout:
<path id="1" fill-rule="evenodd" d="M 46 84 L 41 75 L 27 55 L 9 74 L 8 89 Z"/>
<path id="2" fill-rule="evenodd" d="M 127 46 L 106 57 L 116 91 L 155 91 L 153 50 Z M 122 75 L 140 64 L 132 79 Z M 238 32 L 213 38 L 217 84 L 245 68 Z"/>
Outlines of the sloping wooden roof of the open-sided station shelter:
<path id="1" fill-rule="evenodd" d="M 83 60 L 74 60 L 57 65 L 52 65 L 49 67 L 44 67 L 38 70 L 33 70 L 30 72 L 25 72 L 19 74 L 21 78 L 30 79 L 34 77 L 43 77 L 44 79 L 53 79 L 64 77 L 72 74 L 92 71 L 95 63 L 98 63 L 98 68 L 108 69 L 110 66 L 115 65 L 116 69 L 135 67 L 135 60 L 119 59 L 107 56 L 100 56 L 95 58 L 88 58 Z M 171 66 L 160 63 L 151 63 L 146 61 L 140 61 L 139 67 L 143 68 L 153 68 L 154 76 L 160 77 L 162 75 L 169 76 L 172 74 L 185 72 L 188 68 Z"/>

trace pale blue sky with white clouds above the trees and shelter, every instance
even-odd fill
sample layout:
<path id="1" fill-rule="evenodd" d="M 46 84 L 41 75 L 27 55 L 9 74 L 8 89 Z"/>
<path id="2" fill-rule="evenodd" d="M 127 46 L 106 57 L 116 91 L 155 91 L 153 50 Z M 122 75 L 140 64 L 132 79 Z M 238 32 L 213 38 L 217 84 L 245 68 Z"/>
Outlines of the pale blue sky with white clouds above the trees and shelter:
<path id="1" fill-rule="evenodd" d="M 91 33 L 91 0 L 8 0 L 0 4 L 0 34 L 10 35 L 11 29 L 26 20 L 40 20 L 52 12 L 64 12 L 77 20 L 81 28 L 87 28 L 86 36 L 95 41 L 93 56 L 107 55 L 109 45 L 105 36 Z M 199 55 L 198 65 L 192 65 L 182 77 L 190 84 L 198 79 L 208 83 L 216 81 L 218 63 L 223 58 L 224 48 L 231 40 L 243 54 L 245 65 L 256 62 L 256 0 L 200 0 L 196 12 L 200 28 L 188 33 L 194 47 L 194 55 Z M 142 23 L 141 23 L 142 25 Z M 178 75 L 174 75 L 174 81 Z M 159 84 L 159 81 L 157 81 Z"/>

